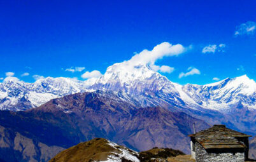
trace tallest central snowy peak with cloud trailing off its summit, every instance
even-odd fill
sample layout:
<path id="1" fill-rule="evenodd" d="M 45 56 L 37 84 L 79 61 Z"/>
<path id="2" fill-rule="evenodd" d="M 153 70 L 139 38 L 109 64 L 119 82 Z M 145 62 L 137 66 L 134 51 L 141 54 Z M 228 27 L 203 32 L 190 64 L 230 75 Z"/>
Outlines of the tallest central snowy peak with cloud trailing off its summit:
<path id="1" fill-rule="evenodd" d="M 108 67 L 106 73 L 89 87 L 93 90 L 122 91 L 143 106 L 196 104 L 180 84 L 153 71 L 150 65 L 131 66 L 128 62 Z"/>

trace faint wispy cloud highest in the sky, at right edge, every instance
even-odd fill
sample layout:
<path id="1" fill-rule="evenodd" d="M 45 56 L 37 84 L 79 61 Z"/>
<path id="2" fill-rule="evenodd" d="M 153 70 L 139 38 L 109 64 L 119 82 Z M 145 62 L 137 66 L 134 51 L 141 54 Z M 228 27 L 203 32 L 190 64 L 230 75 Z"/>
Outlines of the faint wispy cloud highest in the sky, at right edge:
<path id="1" fill-rule="evenodd" d="M 236 27 L 235 36 L 239 35 L 253 35 L 255 33 L 255 22 L 246 22 Z"/>

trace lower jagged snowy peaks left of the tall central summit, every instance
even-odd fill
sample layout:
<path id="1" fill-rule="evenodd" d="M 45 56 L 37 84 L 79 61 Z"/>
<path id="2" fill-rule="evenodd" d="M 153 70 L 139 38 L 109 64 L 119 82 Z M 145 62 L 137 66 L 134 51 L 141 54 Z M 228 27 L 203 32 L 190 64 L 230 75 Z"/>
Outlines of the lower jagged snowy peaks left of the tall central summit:
<path id="1" fill-rule="evenodd" d="M 85 82 L 71 78 L 48 77 L 34 83 L 7 81 L 0 83 L 0 109 L 24 111 L 45 104 L 52 98 L 83 92 L 85 87 Z"/>

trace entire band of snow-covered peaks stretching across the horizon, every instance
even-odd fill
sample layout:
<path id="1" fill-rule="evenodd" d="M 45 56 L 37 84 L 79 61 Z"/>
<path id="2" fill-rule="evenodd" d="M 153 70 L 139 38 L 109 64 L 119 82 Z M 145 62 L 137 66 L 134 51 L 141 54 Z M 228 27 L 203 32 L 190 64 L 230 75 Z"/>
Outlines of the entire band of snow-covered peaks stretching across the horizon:
<path id="1" fill-rule="evenodd" d="M 45 78 L 35 83 L 0 83 L 0 109 L 23 111 L 52 98 L 83 91 L 115 91 L 135 105 L 229 111 L 242 104 L 256 109 L 256 83 L 247 76 L 224 79 L 213 84 L 180 84 L 169 81 L 152 65 L 133 65 L 129 61 L 113 64 L 98 79 Z"/>

